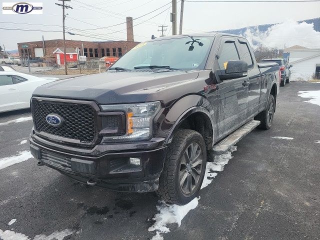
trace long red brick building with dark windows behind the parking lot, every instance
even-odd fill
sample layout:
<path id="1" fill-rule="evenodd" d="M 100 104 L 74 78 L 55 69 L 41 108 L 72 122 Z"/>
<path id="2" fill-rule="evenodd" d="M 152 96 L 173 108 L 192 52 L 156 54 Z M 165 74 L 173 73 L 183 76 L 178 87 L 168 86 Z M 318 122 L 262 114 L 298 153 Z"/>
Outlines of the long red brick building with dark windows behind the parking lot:
<path id="1" fill-rule="evenodd" d="M 132 33 L 133 34 L 133 33 Z M 132 37 L 133 38 L 133 37 Z M 80 55 L 87 58 L 100 58 L 103 56 L 122 56 L 125 52 L 137 45 L 137 41 L 79 41 L 65 40 L 65 47 L 78 47 Z M 83 44 L 83 48 L 82 48 Z M 62 39 L 44 41 L 44 52 L 42 41 L 18 42 L 19 57 L 46 57 L 54 58 L 53 51 L 63 46 Z"/>

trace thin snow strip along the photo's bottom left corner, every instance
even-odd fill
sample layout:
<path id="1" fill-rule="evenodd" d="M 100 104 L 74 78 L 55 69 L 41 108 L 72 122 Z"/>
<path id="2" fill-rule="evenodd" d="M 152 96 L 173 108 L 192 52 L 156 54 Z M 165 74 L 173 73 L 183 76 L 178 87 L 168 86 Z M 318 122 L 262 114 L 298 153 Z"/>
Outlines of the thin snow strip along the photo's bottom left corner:
<path id="1" fill-rule="evenodd" d="M 61 231 L 54 231 L 48 236 L 44 235 L 44 234 L 36 235 L 33 238 L 33 240 L 63 240 L 64 237 L 71 235 L 73 232 L 75 232 L 75 230 L 64 229 Z M 31 238 L 29 238 L 28 236 L 26 236 L 22 233 L 14 232 L 11 230 L 2 231 L 1 229 L 0 229 L 0 239 L 3 239 L 3 240 L 31 240 Z"/>

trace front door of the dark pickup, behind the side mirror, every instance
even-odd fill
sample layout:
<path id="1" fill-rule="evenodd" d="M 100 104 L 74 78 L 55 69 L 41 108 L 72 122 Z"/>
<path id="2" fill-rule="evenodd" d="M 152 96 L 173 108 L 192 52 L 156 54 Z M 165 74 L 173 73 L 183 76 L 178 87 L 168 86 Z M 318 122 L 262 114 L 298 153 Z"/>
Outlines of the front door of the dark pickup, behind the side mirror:
<path id="1" fill-rule="evenodd" d="M 213 68 L 218 82 L 217 128 L 218 137 L 223 137 L 244 123 L 247 115 L 248 84 L 247 76 L 220 80 L 219 73 L 225 71 L 226 63 L 239 60 L 235 38 L 222 38 L 218 47 Z"/>

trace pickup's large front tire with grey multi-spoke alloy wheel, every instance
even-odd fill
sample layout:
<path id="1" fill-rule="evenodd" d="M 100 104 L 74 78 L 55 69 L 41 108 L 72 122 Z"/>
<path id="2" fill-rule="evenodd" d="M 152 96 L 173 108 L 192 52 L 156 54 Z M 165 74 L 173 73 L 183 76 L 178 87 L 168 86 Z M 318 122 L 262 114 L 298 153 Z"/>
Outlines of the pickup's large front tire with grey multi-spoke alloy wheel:
<path id="1" fill-rule="evenodd" d="M 194 154 L 191 154 L 192 149 L 195 150 Z M 198 157 L 192 157 L 194 155 Z M 191 159 L 188 161 L 186 156 Z M 192 165 L 192 160 L 197 164 Z M 194 130 L 178 129 L 167 149 L 157 195 L 166 202 L 178 205 L 191 201 L 200 190 L 205 165 L 206 148 L 201 134 Z"/>

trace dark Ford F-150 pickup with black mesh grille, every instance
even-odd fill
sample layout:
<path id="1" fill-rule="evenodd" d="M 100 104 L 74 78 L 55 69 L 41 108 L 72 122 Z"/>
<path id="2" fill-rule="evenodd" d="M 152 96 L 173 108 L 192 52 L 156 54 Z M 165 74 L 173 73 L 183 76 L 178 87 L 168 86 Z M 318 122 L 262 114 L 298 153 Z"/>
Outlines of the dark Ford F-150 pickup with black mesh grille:
<path id="1" fill-rule="evenodd" d="M 271 126 L 279 81 L 278 65 L 257 63 L 243 37 L 155 38 L 104 73 L 36 88 L 31 153 L 88 185 L 184 204 L 206 161 Z"/>

